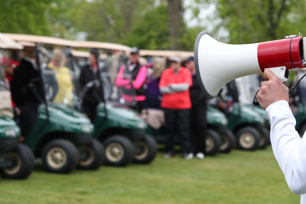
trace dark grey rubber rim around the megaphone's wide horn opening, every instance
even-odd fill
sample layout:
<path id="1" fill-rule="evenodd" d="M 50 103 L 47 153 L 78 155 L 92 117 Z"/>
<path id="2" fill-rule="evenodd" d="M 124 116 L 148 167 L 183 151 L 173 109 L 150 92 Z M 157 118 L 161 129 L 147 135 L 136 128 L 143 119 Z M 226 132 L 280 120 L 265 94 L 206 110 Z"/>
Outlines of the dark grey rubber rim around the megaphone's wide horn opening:
<path id="1" fill-rule="evenodd" d="M 197 76 L 196 78 L 197 78 L 197 80 L 198 80 L 198 82 L 199 82 L 199 85 L 200 85 L 202 91 L 204 92 L 205 96 L 206 96 L 207 98 L 215 98 L 215 97 L 218 95 L 218 93 L 217 93 L 216 95 L 210 95 L 210 94 L 208 93 L 208 91 L 206 90 L 206 88 L 204 87 L 204 84 L 203 84 L 203 82 L 202 82 L 202 80 L 201 80 L 201 75 L 200 75 L 199 61 L 198 61 L 198 48 L 199 48 L 200 39 L 201 39 L 201 37 L 202 37 L 203 35 L 209 35 L 209 36 L 211 36 L 208 32 L 204 32 L 204 31 L 203 31 L 203 32 L 200 32 L 200 33 L 199 33 L 198 37 L 196 37 L 196 43 L 195 43 L 195 46 L 194 46 L 194 64 L 195 64 L 196 76 Z M 212 37 L 212 36 L 211 36 L 211 37 Z"/>

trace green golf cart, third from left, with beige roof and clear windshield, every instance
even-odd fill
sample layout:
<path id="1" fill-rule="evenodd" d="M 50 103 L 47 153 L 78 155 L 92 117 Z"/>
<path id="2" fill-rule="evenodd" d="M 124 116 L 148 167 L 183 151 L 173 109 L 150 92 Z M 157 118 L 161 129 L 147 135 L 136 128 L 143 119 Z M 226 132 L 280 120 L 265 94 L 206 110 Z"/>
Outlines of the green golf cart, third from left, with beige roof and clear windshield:
<path id="1" fill-rule="evenodd" d="M 101 80 L 104 88 L 104 98 L 100 98 L 97 116 L 94 121 L 93 137 L 105 147 L 105 163 L 113 166 L 126 166 L 131 161 L 139 164 L 151 163 L 157 154 L 157 144 L 154 138 L 146 135 L 147 124 L 139 113 L 129 108 L 134 104 L 135 96 L 130 101 L 124 100 L 121 94 L 124 90 L 115 83 L 119 67 L 126 63 L 128 46 L 91 42 L 73 41 L 75 49 L 95 48 L 100 50 L 98 67 L 102 70 Z M 77 52 L 70 59 L 75 59 Z M 89 54 L 88 54 L 89 56 Z M 103 56 L 103 57 L 101 57 Z M 70 64 L 72 64 L 70 62 Z M 79 70 L 79 62 L 74 63 L 74 70 Z M 131 76 L 125 76 L 131 79 Z M 132 83 L 132 81 L 131 81 Z M 95 83 L 88 83 L 84 90 L 95 89 Z M 84 91 L 83 90 L 83 91 Z M 85 93 L 83 93 L 85 94 Z"/>

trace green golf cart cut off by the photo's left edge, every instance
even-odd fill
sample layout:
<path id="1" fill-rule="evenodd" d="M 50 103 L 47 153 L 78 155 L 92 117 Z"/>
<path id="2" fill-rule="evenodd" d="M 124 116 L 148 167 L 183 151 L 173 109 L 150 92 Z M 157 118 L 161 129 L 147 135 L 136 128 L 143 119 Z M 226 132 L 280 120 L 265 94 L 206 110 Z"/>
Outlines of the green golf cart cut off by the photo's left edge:
<path id="1" fill-rule="evenodd" d="M 5 50 L 2 50 L 5 49 Z M 34 169 L 34 155 L 24 144 L 18 142 L 20 128 L 13 120 L 13 108 L 9 83 L 5 78 L 9 50 L 22 46 L 0 33 L 0 175 L 9 179 L 25 179 Z"/>

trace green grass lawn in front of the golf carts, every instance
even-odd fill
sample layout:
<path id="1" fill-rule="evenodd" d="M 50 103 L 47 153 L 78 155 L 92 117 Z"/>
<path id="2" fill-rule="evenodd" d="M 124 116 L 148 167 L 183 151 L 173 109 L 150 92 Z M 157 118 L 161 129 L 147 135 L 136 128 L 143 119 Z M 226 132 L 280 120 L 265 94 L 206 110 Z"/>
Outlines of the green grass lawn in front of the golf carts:
<path id="1" fill-rule="evenodd" d="M 69 175 L 37 167 L 27 180 L 0 179 L 0 203 L 278 204 L 300 203 L 300 196 L 289 190 L 269 146 L 204 160 L 165 159 L 159 153 L 150 165 Z"/>

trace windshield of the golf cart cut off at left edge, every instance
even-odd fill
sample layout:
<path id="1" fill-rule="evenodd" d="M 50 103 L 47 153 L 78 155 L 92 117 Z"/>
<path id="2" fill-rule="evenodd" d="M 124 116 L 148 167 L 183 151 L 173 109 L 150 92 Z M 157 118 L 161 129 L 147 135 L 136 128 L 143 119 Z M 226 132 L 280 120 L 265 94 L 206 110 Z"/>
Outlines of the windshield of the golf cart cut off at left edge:
<path id="1" fill-rule="evenodd" d="M 5 67 L 7 64 L 8 53 L 0 49 L 0 117 L 7 116 L 13 118 L 13 108 L 9 82 L 5 78 Z"/>

